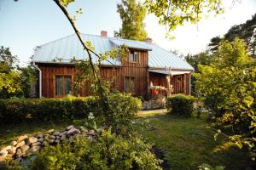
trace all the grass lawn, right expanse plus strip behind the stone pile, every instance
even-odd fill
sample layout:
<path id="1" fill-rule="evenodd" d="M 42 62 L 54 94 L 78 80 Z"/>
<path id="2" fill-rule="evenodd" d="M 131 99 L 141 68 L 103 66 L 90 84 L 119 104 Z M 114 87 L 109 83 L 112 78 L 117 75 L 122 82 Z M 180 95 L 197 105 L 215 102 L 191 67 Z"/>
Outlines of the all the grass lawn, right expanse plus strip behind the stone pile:
<path id="1" fill-rule="evenodd" d="M 166 110 L 140 111 L 138 117 L 148 120 L 150 127 L 141 127 L 141 133 L 150 143 L 163 150 L 165 161 L 171 169 L 198 169 L 202 163 L 223 165 L 225 169 L 246 169 L 253 163 L 247 159 L 245 150 L 235 147 L 216 151 L 224 139 L 214 141 L 210 124 L 204 118 L 171 117 Z M 0 147 L 18 136 L 45 132 L 51 128 L 63 130 L 73 122 L 21 124 L 0 127 Z M 249 168 L 248 168 L 249 169 Z"/>

